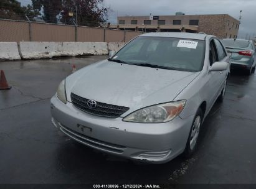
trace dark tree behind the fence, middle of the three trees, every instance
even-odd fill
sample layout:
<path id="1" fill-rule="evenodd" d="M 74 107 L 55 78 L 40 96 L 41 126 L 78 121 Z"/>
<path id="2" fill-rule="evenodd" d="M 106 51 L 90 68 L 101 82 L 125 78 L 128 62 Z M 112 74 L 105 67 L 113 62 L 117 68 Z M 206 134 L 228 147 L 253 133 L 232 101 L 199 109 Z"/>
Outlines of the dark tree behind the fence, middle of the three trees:
<path id="1" fill-rule="evenodd" d="M 47 23 L 57 23 L 57 16 L 62 11 L 62 0 L 32 0 L 34 10 L 44 11 L 42 19 Z"/>

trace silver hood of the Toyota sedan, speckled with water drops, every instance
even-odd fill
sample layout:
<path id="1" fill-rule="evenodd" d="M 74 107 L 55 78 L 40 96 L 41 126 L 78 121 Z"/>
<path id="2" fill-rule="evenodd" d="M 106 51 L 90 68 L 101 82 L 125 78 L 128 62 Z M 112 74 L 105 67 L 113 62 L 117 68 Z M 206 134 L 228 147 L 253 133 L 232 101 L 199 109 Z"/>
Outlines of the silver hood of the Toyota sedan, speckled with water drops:
<path id="1" fill-rule="evenodd" d="M 199 72 L 164 70 L 104 60 L 76 71 L 66 79 L 70 93 L 87 99 L 136 109 L 173 101 Z"/>

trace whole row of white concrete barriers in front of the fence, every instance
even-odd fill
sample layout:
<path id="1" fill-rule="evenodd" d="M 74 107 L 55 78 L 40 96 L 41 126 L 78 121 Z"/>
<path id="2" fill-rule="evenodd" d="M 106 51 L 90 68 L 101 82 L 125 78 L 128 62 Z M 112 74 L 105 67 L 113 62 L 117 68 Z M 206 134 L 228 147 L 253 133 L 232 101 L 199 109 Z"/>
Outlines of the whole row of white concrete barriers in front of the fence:
<path id="1" fill-rule="evenodd" d="M 0 60 L 107 55 L 118 51 L 123 42 L 0 42 Z"/>

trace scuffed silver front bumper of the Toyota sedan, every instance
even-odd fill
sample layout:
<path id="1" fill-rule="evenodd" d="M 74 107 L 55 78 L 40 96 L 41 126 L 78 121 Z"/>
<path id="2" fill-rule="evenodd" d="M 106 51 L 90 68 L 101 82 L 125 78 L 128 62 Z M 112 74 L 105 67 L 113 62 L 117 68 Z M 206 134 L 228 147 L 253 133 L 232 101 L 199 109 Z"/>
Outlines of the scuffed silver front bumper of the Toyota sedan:
<path id="1" fill-rule="evenodd" d="M 164 163 L 181 154 L 194 116 L 161 124 L 124 122 L 84 113 L 72 103 L 50 99 L 52 123 L 67 136 L 94 149 L 128 159 Z"/>

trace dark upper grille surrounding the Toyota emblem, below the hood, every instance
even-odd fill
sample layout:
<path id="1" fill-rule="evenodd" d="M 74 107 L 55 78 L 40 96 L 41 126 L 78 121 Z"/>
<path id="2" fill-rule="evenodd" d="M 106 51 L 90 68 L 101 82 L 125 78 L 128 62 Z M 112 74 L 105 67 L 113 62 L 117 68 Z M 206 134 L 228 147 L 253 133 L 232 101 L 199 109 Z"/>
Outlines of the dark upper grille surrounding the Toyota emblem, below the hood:
<path id="1" fill-rule="evenodd" d="M 108 118 L 118 118 L 121 114 L 128 111 L 128 107 L 116 106 L 112 104 L 97 102 L 96 108 L 89 108 L 87 102 L 89 99 L 77 96 L 77 94 L 71 93 L 71 100 L 75 107 L 85 111 L 88 114 L 93 114 L 95 116 L 103 116 Z"/>

